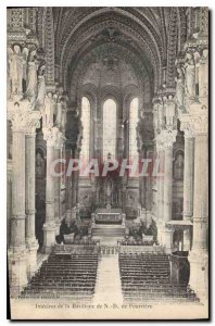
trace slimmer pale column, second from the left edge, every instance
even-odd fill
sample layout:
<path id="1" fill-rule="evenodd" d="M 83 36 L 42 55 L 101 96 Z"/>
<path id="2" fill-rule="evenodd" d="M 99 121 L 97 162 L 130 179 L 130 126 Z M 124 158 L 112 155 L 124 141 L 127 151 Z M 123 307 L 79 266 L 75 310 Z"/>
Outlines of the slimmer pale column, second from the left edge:
<path id="1" fill-rule="evenodd" d="M 39 112 L 37 113 L 39 115 Z M 37 269 L 38 241 L 35 237 L 35 130 L 39 118 L 31 120 L 25 136 L 25 212 L 26 212 L 26 247 L 27 274 L 31 277 Z"/>

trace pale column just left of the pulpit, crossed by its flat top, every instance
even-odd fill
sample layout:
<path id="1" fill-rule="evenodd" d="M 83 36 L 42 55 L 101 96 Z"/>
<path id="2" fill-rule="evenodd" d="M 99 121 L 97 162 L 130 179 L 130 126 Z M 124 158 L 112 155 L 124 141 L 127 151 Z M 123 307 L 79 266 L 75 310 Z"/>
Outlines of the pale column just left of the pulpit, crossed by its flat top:
<path id="1" fill-rule="evenodd" d="M 164 210 L 163 221 L 164 224 L 172 221 L 173 208 L 173 143 L 176 141 L 177 130 L 163 130 L 164 143 Z M 165 227 L 165 235 L 163 244 L 165 246 L 166 253 L 172 252 L 173 246 L 173 230 Z"/>

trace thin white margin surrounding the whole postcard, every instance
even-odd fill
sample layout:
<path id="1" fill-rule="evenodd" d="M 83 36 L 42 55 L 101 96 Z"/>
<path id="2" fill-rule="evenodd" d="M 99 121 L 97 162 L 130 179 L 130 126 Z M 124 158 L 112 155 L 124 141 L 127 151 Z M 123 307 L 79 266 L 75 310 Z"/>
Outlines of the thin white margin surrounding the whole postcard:
<path id="1" fill-rule="evenodd" d="M 7 74 L 5 74 L 5 63 L 7 63 L 7 7 L 208 7 L 211 12 L 211 65 L 213 71 L 211 71 L 211 83 L 214 77 L 214 68 L 215 65 L 214 63 L 212 64 L 213 58 L 212 54 L 215 53 L 214 51 L 214 23 L 212 22 L 213 15 L 214 15 L 214 7 L 215 2 L 214 0 L 210 1 L 155 1 L 155 0 L 150 0 L 148 3 L 146 1 L 141 0 L 136 0 L 136 1 L 128 1 L 128 0 L 109 0 L 109 1 L 103 1 L 103 0 L 94 0 L 86 2 L 84 0 L 79 1 L 59 1 L 59 0 L 43 0 L 43 1 L 27 1 L 27 0 L 22 0 L 22 1 L 2 1 L 0 3 L 0 322 L 1 325 L 8 325 L 9 321 L 7 321 L 7 101 L 5 101 L 5 93 L 7 93 Z M 212 145 L 212 152 L 211 152 L 211 168 L 212 162 L 214 162 L 214 155 L 215 155 L 215 139 L 214 139 L 214 126 L 215 126 L 215 114 L 212 113 L 214 110 L 213 108 L 213 95 L 215 93 L 214 89 L 214 83 L 212 84 L 211 87 L 211 129 L 212 129 L 212 138 L 211 138 L 211 145 Z M 211 173 L 211 183 L 214 184 L 215 176 L 214 174 Z M 212 186 L 212 185 L 211 185 Z M 211 193 L 211 202 L 215 202 L 215 195 Z M 213 210 L 211 210 L 211 227 L 212 225 L 212 220 L 213 220 Z M 213 236 L 215 235 L 214 229 L 211 230 L 211 246 L 213 244 Z M 211 248 L 212 250 L 212 248 Z M 211 258 L 212 258 L 212 252 L 211 252 Z M 214 271 L 214 261 L 211 262 L 213 263 L 213 266 L 211 266 L 211 278 L 213 277 L 212 271 Z M 211 279 L 211 285 L 214 285 L 214 281 L 212 283 Z M 211 290 L 212 294 L 214 293 L 214 287 Z M 214 301 L 214 300 L 213 300 Z M 211 306 L 212 312 L 214 311 L 214 304 Z M 71 322 L 74 324 L 74 322 Z M 83 322 L 84 323 L 84 322 Z M 147 322 L 143 322 L 144 324 Z M 45 322 L 41 322 L 41 325 L 45 324 Z M 62 322 L 59 322 L 56 324 L 62 324 Z M 79 323 L 78 323 L 79 324 Z M 85 324 L 85 323 L 84 323 Z M 115 323 L 113 323 L 115 324 Z M 134 323 L 129 323 L 134 324 Z M 148 323 L 147 323 L 148 324 Z M 151 323 L 150 323 L 151 324 Z M 156 322 L 153 324 L 157 324 Z M 184 323 L 188 324 L 188 323 Z M 193 324 L 193 323 L 192 323 Z"/>

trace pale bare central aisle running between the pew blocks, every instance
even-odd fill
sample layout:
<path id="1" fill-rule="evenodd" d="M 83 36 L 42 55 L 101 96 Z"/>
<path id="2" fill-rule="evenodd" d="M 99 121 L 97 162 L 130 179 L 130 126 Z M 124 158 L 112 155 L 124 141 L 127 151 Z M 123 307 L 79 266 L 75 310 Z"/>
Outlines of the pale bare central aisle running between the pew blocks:
<path id="1" fill-rule="evenodd" d="M 98 265 L 94 289 L 94 304 L 122 304 L 121 275 L 118 268 L 118 253 L 101 255 Z"/>

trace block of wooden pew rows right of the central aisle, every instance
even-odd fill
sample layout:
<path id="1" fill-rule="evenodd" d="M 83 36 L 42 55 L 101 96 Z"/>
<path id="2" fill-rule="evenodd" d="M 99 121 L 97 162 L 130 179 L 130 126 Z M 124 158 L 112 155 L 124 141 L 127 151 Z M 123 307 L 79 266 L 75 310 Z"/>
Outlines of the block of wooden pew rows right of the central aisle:
<path id="1" fill-rule="evenodd" d="M 199 302 L 189 286 L 170 283 L 167 254 L 121 253 L 118 262 L 126 302 Z"/>

